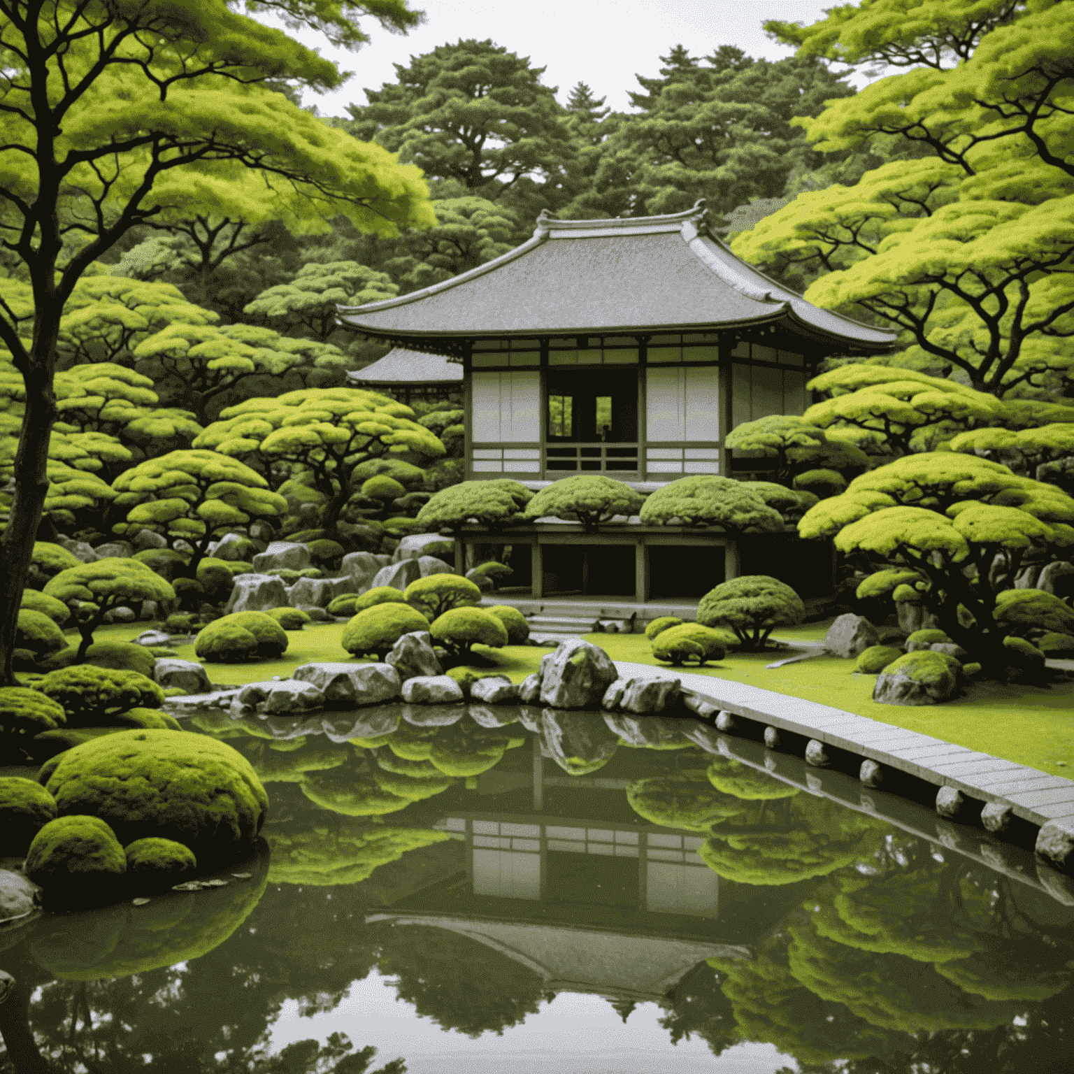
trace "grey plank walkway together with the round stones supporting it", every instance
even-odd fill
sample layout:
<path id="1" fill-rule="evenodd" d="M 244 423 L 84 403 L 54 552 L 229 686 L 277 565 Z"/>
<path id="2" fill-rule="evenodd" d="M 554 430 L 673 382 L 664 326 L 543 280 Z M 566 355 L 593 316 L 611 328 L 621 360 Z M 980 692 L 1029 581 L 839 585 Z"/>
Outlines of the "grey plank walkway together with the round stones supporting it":
<path id="1" fill-rule="evenodd" d="M 616 661 L 615 667 L 624 678 L 666 673 L 647 664 Z M 770 750 L 797 754 L 816 768 L 856 769 L 870 788 L 896 789 L 900 777 L 924 781 L 937 787 L 941 816 L 1018 842 L 1029 836 L 1040 858 L 1074 873 L 1074 780 L 816 701 L 679 669 L 676 674 L 686 707 L 719 730 L 763 739 Z"/>

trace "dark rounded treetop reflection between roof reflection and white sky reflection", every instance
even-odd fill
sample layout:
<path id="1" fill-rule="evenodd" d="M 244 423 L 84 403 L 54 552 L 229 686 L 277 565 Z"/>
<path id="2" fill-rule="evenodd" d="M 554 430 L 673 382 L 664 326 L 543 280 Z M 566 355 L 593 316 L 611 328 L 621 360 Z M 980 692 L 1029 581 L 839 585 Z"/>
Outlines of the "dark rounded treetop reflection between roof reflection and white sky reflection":
<path id="1" fill-rule="evenodd" d="M 503 1033 L 545 998 L 545 983 L 533 970 L 478 940 L 425 925 L 389 931 L 380 972 L 398 977 L 398 998 L 418 1014 L 467 1036 Z"/>

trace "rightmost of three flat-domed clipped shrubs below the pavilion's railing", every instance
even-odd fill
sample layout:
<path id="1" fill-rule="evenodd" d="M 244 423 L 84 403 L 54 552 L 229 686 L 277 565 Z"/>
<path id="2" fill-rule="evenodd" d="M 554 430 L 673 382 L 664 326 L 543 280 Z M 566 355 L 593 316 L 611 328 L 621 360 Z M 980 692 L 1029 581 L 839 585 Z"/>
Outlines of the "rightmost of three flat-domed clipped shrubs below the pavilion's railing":
<path id="1" fill-rule="evenodd" d="M 730 534 L 780 533 L 783 518 L 750 485 L 727 477 L 681 477 L 662 485 L 641 507 L 647 525 L 720 526 Z"/>

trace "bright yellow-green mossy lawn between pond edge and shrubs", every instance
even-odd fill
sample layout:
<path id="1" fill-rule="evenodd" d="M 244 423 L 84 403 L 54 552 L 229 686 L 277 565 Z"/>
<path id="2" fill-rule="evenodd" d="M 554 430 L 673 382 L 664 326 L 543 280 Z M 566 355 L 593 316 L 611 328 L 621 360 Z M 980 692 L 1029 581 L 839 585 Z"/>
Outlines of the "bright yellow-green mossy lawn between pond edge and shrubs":
<path id="1" fill-rule="evenodd" d="M 98 640 L 126 641 L 144 629 L 143 624 L 106 627 L 98 632 Z M 781 630 L 780 637 L 788 641 L 819 641 L 826 629 L 827 623 L 811 623 Z M 352 659 L 339 644 L 342 633 L 342 623 L 290 632 L 288 651 L 278 659 L 208 665 L 209 678 L 214 682 L 238 685 L 273 676 L 287 677 L 300 665 L 313 661 Z M 668 668 L 652 658 L 643 635 L 593 634 L 587 640 L 607 650 L 612 659 Z M 184 659 L 195 658 L 192 643 L 177 645 L 176 650 Z M 478 645 L 475 653 L 481 663 L 503 671 L 513 682 L 521 682 L 537 670 L 548 651 L 531 645 L 508 645 L 498 650 Z M 774 659 L 779 659 L 778 653 L 731 654 L 711 667 L 682 670 L 830 705 L 1055 775 L 1074 778 L 1074 680 L 1059 681 L 1049 687 L 986 682 L 971 686 L 957 701 L 916 708 L 876 705 L 872 700 L 875 677 L 855 674 L 853 661 L 822 656 L 771 670 L 765 667 Z"/>

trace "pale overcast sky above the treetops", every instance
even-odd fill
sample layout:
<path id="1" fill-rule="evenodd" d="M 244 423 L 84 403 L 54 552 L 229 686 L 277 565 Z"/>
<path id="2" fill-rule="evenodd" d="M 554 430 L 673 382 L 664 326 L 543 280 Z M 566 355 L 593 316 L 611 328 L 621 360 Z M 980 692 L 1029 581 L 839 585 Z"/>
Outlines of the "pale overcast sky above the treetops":
<path id="1" fill-rule="evenodd" d="M 768 18 L 814 21 L 837 0 L 413 0 L 425 11 L 424 25 L 405 37 L 363 26 L 372 37 L 357 53 L 332 48 L 315 33 L 293 34 L 354 76 L 334 93 L 306 95 L 322 115 L 346 115 L 351 102 L 366 103 L 365 87 L 395 81 L 393 63 L 460 39 L 491 38 L 535 67 L 547 67 L 543 82 L 558 87 L 565 101 L 577 82 L 585 82 L 613 108 L 627 111 L 635 74 L 658 74 L 661 56 L 672 45 L 705 56 L 719 45 L 738 45 L 751 56 L 783 59 L 792 50 L 765 35 Z M 265 19 L 265 21 L 271 21 Z M 289 31 L 292 32 L 293 31 Z M 856 83 L 860 84 L 858 79 Z"/>

